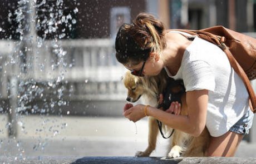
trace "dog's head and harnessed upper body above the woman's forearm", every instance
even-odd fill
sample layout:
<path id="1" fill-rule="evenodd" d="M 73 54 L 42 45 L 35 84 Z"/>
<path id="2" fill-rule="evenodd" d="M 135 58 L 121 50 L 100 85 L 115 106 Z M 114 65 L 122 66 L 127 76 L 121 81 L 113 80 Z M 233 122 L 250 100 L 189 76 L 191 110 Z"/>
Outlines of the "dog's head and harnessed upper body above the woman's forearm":
<path id="1" fill-rule="evenodd" d="M 181 103 L 181 96 L 185 92 L 183 81 L 169 78 L 164 69 L 157 76 L 144 77 L 134 76 L 127 71 L 123 82 L 128 90 L 127 101 L 133 103 L 143 96 L 144 103 L 164 107 L 164 110 L 169 108 L 173 101 Z M 163 94 L 163 103 L 156 105 L 160 94 Z"/>

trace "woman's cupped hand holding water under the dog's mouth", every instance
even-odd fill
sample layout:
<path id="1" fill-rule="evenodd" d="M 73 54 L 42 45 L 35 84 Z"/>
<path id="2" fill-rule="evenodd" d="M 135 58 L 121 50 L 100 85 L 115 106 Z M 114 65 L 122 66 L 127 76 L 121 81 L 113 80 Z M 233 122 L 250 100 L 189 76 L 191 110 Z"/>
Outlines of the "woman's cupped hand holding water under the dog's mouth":
<path id="1" fill-rule="evenodd" d="M 126 104 L 124 107 L 123 115 L 128 118 L 130 121 L 137 122 L 141 118 L 145 117 L 144 105 L 132 106 L 132 104 Z"/>

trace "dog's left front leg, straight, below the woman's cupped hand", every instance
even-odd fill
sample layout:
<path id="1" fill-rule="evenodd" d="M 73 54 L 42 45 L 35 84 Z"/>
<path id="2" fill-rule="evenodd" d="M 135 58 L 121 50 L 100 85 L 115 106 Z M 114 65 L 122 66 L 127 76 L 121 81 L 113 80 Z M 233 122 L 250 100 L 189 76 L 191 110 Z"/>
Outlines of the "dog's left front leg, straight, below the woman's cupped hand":
<path id="1" fill-rule="evenodd" d="M 155 118 L 149 117 L 149 137 L 148 146 L 145 151 L 138 151 L 135 156 L 148 157 L 156 148 L 156 139 L 158 134 L 158 127 Z"/>

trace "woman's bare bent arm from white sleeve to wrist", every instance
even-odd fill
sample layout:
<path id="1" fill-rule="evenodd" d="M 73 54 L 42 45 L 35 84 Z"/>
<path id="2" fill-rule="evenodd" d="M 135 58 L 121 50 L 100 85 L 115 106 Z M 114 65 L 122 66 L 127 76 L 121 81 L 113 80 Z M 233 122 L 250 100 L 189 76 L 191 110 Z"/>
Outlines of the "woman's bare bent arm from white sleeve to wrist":
<path id="1" fill-rule="evenodd" d="M 171 128 L 199 136 L 204 130 L 208 105 L 208 90 L 186 92 L 188 116 L 173 115 L 154 107 L 147 108 L 147 115 L 155 117 Z"/>

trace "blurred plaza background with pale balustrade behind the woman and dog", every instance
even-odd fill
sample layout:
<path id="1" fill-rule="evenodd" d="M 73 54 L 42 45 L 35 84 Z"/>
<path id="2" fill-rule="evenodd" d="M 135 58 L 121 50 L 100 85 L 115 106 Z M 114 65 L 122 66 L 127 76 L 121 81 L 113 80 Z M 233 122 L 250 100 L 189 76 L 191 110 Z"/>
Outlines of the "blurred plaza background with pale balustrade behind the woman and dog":
<path id="1" fill-rule="evenodd" d="M 140 12 L 166 28 L 222 25 L 256 37 L 255 0 L 0 4 L 0 156 L 134 156 L 146 148 L 146 118 L 132 123 L 122 116 L 126 70 L 114 47 L 117 29 Z M 255 124 L 236 156 L 255 156 L 248 153 L 255 151 Z M 158 143 L 152 156 L 165 155 L 169 141 Z"/>

